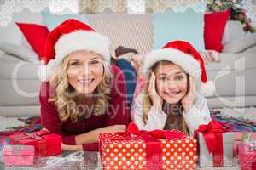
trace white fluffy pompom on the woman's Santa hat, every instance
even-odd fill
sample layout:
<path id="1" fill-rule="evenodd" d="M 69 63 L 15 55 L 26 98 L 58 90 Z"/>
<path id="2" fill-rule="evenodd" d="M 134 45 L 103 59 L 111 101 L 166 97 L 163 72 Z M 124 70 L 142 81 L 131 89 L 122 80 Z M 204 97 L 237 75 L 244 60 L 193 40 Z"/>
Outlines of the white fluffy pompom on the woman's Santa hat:
<path id="1" fill-rule="evenodd" d="M 49 77 L 52 74 L 55 66 L 55 59 L 49 61 L 47 65 L 41 64 L 38 67 L 38 77 L 41 82 L 49 81 Z"/>

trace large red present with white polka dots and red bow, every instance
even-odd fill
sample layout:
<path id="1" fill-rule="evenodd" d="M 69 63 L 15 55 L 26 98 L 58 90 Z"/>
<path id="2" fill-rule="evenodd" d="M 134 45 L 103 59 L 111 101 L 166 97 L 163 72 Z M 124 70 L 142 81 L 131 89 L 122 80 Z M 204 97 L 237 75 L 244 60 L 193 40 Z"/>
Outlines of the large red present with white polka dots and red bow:
<path id="1" fill-rule="evenodd" d="M 177 130 L 101 133 L 102 169 L 195 169 L 196 140 Z"/>

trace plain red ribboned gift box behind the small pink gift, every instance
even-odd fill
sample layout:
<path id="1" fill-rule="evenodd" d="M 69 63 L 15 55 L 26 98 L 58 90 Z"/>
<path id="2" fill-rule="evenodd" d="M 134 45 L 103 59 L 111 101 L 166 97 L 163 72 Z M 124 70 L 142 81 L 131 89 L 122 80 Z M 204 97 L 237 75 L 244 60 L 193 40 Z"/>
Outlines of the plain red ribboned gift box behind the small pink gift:
<path id="1" fill-rule="evenodd" d="M 54 156 L 61 154 L 61 136 L 50 133 L 47 130 L 11 135 L 10 144 L 33 145 L 35 147 L 36 156 Z"/>

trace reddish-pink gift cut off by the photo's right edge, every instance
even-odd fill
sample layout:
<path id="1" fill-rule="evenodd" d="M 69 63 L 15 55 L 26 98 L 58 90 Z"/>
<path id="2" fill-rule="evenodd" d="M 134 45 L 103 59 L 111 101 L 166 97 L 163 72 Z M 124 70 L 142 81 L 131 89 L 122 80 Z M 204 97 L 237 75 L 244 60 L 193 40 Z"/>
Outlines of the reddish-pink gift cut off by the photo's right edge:
<path id="1" fill-rule="evenodd" d="M 238 161 L 241 170 L 256 169 L 256 150 L 251 144 L 238 144 Z"/>

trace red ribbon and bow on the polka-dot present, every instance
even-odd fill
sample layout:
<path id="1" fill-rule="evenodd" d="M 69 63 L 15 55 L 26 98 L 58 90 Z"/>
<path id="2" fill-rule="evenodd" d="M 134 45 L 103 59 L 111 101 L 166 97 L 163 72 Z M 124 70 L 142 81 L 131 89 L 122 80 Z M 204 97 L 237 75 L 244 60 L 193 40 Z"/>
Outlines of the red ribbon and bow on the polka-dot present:
<path id="1" fill-rule="evenodd" d="M 153 130 L 140 131 L 137 125 L 131 122 L 125 133 L 119 133 L 126 137 L 111 138 L 113 140 L 119 139 L 143 139 L 146 144 L 146 160 L 148 169 L 162 169 L 162 149 L 161 141 L 159 139 L 185 139 L 187 135 L 177 130 Z"/>

